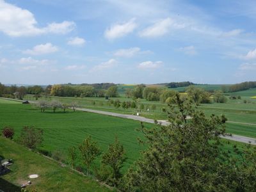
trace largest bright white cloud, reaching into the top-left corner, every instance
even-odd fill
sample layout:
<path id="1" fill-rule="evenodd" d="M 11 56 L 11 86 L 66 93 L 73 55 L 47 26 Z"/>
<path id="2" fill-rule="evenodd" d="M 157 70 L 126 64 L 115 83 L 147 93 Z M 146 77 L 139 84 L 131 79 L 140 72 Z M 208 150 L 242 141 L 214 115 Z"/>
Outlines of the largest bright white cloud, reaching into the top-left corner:
<path id="1" fill-rule="evenodd" d="M 45 28 L 38 28 L 33 13 L 0 0 L 0 31 L 9 36 L 31 36 L 45 33 L 65 34 L 76 24 L 70 21 L 53 22 Z"/>

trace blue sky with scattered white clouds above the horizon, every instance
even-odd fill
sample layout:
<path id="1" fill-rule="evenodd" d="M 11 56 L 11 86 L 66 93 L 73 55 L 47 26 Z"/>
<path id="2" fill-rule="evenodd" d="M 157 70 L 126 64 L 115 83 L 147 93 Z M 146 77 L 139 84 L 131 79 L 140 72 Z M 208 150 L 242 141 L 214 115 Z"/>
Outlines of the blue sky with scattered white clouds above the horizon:
<path id="1" fill-rule="evenodd" d="M 255 0 L 0 0 L 0 82 L 256 81 Z"/>

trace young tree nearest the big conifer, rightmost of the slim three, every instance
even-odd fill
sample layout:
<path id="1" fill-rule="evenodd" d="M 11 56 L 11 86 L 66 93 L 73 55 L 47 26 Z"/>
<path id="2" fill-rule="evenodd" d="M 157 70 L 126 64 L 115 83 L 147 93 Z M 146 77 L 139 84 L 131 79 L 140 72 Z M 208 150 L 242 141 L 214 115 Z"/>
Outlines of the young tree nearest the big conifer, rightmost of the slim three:
<path id="1" fill-rule="evenodd" d="M 108 175 L 108 182 L 113 186 L 118 186 L 122 177 L 120 169 L 125 161 L 124 154 L 124 147 L 116 138 L 115 143 L 110 144 L 108 150 L 102 156 L 102 163 L 111 168 L 112 173 Z"/>

